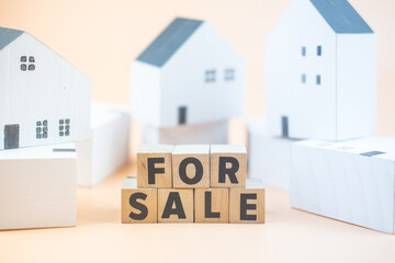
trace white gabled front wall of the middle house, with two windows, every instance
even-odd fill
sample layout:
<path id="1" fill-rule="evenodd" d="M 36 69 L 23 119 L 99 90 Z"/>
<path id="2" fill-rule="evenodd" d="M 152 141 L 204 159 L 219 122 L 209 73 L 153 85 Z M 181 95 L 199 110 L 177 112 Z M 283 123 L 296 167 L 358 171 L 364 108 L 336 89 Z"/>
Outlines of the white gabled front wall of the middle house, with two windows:
<path id="1" fill-rule="evenodd" d="M 234 80 L 225 70 L 234 69 Z M 206 82 L 206 70 L 215 80 Z M 178 111 L 187 106 L 185 124 L 202 124 L 241 115 L 245 107 L 246 64 L 211 24 L 202 24 L 161 69 L 160 127 L 179 124 Z"/>

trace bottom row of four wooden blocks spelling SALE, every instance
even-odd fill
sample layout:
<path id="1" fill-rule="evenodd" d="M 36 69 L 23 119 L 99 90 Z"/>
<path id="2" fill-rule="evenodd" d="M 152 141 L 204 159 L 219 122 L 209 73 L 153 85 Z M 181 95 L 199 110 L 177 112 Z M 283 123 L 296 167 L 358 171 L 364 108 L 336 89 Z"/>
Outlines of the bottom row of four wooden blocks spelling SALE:
<path id="1" fill-rule="evenodd" d="M 137 188 L 135 178 L 122 187 L 122 222 L 264 222 L 264 188 Z"/>

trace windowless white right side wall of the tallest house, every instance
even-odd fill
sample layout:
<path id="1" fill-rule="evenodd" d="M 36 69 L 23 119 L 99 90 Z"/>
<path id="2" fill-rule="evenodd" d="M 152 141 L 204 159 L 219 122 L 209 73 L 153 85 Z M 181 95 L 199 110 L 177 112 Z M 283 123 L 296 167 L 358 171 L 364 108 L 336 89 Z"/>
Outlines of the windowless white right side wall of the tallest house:
<path id="1" fill-rule="evenodd" d="M 376 114 L 375 35 L 339 34 L 337 46 L 338 139 L 372 135 Z"/>

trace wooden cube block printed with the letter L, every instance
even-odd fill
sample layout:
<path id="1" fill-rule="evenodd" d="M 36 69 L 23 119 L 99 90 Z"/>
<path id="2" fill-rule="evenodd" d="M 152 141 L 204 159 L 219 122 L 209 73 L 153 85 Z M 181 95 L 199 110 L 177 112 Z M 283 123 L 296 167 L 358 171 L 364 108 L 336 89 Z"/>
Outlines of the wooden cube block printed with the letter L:
<path id="1" fill-rule="evenodd" d="M 195 222 L 229 222 L 229 190 L 196 188 Z"/>

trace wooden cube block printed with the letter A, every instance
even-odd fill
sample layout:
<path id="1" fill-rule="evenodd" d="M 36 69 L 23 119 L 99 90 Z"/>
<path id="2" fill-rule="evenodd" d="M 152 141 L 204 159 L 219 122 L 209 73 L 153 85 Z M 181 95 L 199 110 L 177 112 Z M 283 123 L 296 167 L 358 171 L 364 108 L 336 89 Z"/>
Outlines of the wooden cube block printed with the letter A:
<path id="1" fill-rule="evenodd" d="M 158 222 L 193 222 L 193 190 L 158 190 Z"/>

